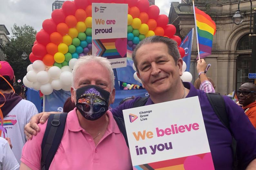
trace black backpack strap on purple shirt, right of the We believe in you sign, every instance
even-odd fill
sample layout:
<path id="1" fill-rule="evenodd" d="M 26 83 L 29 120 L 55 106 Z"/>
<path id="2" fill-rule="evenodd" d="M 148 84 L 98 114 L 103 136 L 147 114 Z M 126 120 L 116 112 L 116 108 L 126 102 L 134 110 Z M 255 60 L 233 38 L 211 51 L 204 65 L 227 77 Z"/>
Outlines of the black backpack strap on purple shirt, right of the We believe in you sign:
<path id="1" fill-rule="evenodd" d="M 229 126 L 229 118 L 226 111 L 225 101 L 220 93 L 205 93 L 215 114 L 218 116 L 222 124 L 229 130 L 232 135 L 232 154 L 233 154 L 233 169 L 237 169 L 238 160 L 236 155 L 236 140 Z"/>

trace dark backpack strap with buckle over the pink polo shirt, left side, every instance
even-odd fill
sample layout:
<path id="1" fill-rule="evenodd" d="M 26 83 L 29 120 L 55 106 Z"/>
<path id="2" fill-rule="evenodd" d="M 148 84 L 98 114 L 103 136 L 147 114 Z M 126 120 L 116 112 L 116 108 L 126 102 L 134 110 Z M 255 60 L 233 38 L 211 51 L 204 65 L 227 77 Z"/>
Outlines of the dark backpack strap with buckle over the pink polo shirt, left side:
<path id="1" fill-rule="evenodd" d="M 42 170 L 48 170 L 62 140 L 68 113 L 51 114 L 48 118 L 41 145 Z"/>

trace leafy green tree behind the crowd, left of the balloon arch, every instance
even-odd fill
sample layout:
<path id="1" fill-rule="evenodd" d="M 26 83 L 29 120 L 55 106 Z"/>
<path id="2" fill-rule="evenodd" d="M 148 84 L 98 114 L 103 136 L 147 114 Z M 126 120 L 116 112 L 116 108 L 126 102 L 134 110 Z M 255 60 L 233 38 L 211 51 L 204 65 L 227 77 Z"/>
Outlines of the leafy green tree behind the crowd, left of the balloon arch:
<path id="1" fill-rule="evenodd" d="M 37 31 L 34 27 L 29 25 L 17 26 L 13 25 L 11 28 L 13 36 L 10 38 L 10 42 L 4 47 L 4 53 L 7 55 L 5 60 L 12 66 L 16 82 L 17 80 L 23 80 L 23 77 L 27 73 L 27 66 L 30 64 L 29 59 L 21 58 L 26 44 L 32 45 L 35 41 L 35 35 Z M 25 48 L 25 52 L 29 56 L 30 47 Z"/>

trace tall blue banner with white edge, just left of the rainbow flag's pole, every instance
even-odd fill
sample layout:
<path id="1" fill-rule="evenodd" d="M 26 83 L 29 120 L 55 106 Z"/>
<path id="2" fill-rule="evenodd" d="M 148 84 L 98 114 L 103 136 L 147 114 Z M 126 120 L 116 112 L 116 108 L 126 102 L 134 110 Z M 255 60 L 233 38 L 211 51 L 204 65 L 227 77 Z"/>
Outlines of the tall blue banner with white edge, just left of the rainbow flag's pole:
<path id="1" fill-rule="evenodd" d="M 187 68 L 185 72 L 189 72 L 190 68 L 190 58 L 191 58 L 191 50 L 192 50 L 192 43 L 193 43 L 193 35 L 194 35 L 194 28 L 192 28 L 183 41 L 180 44 L 180 47 L 184 48 L 185 56 L 182 60 L 186 63 Z"/>

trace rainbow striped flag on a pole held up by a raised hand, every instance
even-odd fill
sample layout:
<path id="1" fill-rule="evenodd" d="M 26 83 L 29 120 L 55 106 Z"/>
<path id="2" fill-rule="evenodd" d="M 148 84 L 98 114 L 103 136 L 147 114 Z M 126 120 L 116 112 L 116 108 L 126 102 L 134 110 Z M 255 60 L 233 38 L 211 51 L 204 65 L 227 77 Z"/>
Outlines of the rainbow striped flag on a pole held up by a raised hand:
<path id="1" fill-rule="evenodd" d="M 200 58 L 212 53 L 213 35 L 216 33 L 215 22 L 209 15 L 194 7 L 195 26 L 197 31 L 197 43 L 199 45 Z"/>

